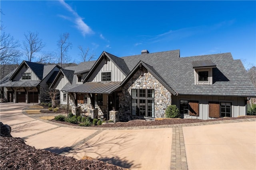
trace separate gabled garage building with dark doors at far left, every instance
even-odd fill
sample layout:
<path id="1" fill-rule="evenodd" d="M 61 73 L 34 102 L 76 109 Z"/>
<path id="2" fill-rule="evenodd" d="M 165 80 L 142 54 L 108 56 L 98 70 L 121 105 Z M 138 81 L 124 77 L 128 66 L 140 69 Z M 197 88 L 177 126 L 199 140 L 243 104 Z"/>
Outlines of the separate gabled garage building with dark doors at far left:
<path id="1" fill-rule="evenodd" d="M 0 82 L 1 98 L 14 103 L 39 103 L 47 98 L 45 93 L 60 66 L 23 61 Z"/>

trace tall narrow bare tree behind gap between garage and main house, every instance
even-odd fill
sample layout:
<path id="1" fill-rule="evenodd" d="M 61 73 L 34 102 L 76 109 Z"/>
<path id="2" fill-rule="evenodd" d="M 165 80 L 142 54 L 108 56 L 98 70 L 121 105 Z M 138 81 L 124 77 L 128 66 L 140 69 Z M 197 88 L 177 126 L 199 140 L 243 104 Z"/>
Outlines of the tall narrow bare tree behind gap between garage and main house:
<path id="1" fill-rule="evenodd" d="M 64 57 L 67 57 L 68 49 L 72 48 L 72 43 L 68 42 L 69 33 L 63 33 L 60 35 L 60 39 L 57 41 L 57 45 L 60 50 L 60 66 L 62 67 L 62 61 Z"/>

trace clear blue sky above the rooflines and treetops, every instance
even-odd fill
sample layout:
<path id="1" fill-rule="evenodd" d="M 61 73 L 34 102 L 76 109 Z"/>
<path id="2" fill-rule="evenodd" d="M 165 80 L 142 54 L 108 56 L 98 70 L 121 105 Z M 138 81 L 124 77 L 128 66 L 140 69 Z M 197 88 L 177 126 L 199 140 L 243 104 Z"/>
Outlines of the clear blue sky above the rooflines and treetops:
<path id="1" fill-rule="evenodd" d="M 56 51 L 59 35 L 70 33 L 71 62 L 78 46 L 96 59 L 103 51 L 118 57 L 180 49 L 181 57 L 230 52 L 256 65 L 256 1 L 4 1 L 6 33 L 24 41 L 38 32 Z"/>

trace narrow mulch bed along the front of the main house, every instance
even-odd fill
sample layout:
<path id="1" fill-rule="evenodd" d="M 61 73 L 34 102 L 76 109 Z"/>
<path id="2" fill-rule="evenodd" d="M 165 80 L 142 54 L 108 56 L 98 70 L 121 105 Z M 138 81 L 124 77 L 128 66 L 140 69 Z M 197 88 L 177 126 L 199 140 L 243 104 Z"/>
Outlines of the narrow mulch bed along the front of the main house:
<path id="1" fill-rule="evenodd" d="M 209 120 L 201 120 L 201 119 L 162 119 L 155 121 L 145 121 L 145 120 L 132 120 L 128 122 L 117 122 L 114 124 L 104 124 L 97 125 L 93 127 L 136 127 L 136 126 L 157 126 L 157 125 L 174 125 L 181 123 L 198 123 L 198 122 L 208 122 L 208 121 L 221 121 L 221 120 L 231 120 L 231 119 L 247 119 L 247 118 L 256 118 L 256 116 L 241 116 L 241 117 L 225 117 L 218 119 L 209 119 Z M 72 124 L 64 121 L 56 121 L 57 123 L 62 123 L 66 125 L 78 126 L 77 124 Z"/>

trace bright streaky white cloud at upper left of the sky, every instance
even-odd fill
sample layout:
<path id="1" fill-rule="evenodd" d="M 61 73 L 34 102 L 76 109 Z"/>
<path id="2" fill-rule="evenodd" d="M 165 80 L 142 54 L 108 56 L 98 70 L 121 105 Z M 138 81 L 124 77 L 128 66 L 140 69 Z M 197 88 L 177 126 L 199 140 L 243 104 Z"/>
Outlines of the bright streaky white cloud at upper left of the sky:
<path id="1" fill-rule="evenodd" d="M 86 35 L 86 34 L 92 34 L 93 31 L 92 29 L 90 29 L 90 27 L 84 23 L 83 19 L 64 1 L 64 0 L 59 0 L 60 4 L 62 4 L 69 12 L 72 13 L 72 15 L 74 16 L 74 23 L 76 24 L 76 28 L 81 31 L 82 35 Z M 66 20 L 71 20 L 71 18 L 68 18 L 66 16 L 63 15 L 59 15 L 60 17 L 66 19 Z"/>

